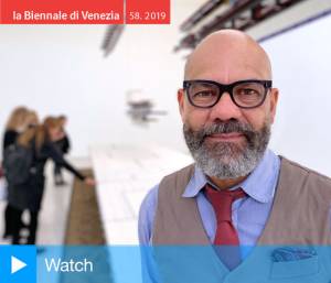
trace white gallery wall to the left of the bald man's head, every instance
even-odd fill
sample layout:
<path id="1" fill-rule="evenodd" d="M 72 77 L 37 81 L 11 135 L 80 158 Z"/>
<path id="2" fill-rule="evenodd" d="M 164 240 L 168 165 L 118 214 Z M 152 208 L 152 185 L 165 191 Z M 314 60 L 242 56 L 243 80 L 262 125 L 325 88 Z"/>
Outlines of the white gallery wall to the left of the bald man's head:
<path id="1" fill-rule="evenodd" d="M 154 140 L 182 142 L 177 88 L 183 59 L 172 50 L 179 24 L 201 0 L 172 2 L 170 25 L 127 25 L 115 52 L 104 57 L 105 25 L 1 25 L 0 128 L 18 105 L 46 115 L 65 113 L 73 155 L 85 156 L 90 144 Z M 141 89 L 156 107 L 169 112 L 150 127 L 132 126 L 126 94 Z M 172 137 L 170 137 L 172 135 Z"/>

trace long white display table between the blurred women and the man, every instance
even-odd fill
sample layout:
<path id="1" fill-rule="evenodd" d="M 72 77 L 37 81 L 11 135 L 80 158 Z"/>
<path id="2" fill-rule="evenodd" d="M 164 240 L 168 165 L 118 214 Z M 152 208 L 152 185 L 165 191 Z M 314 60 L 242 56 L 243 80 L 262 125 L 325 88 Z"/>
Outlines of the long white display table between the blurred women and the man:
<path id="1" fill-rule="evenodd" d="M 97 197 L 107 244 L 138 244 L 138 213 L 148 191 L 192 163 L 189 154 L 156 144 L 92 148 Z"/>

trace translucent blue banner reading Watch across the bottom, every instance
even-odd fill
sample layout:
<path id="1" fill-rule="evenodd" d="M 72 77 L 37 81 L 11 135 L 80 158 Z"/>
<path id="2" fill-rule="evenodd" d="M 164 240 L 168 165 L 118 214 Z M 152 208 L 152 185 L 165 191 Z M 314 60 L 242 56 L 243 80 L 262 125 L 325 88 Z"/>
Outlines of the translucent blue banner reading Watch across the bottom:
<path id="1" fill-rule="evenodd" d="M 0 283 L 331 283 L 329 246 L 241 249 L 229 271 L 213 246 L 0 246 Z M 15 274 L 12 255 L 26 263 Z"/>

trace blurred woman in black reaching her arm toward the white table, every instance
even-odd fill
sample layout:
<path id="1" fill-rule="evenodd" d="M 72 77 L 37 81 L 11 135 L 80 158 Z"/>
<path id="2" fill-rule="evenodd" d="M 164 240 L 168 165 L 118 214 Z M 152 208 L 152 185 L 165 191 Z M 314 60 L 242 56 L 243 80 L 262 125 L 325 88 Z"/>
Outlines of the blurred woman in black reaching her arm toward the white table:
<path id="1" fill-rule="evenodd" d="M 17 185 L 9 191 L 8 202 L 13 208 L 13 244 L 20 243 L 21 240 L 19 222 L 24 209 L 29 209 L 30 211 L 30 235 L 26 243 L 35 243 L 38 215 L 41 209 L 45 184 L 44 167 L 49 159 L 60 163 L 87 185 L 94 185 L 94 179 L 83 176 L 63 159 L 55 145 L 55 142 L 61 138 L 61 124 L 58 119 L 53 117 L 46 118 L 41 126 L 28 129 L 18 138 L 18 144 L 31 149 L 33 157 L 29 179 L 24 184 Z"/>

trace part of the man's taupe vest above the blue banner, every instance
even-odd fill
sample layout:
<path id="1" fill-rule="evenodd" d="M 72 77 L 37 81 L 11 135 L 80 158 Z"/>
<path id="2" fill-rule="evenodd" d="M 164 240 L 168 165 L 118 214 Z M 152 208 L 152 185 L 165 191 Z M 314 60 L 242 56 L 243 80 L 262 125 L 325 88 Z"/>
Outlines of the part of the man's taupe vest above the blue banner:
<path id="1" fill-rule="evenodd" d="M 194 165 L 190 165 L 161 181 L 154 244 L 210 243 L 195 198 L 182 197 L 193 171 Z M 273 209 L 258 243 L 331 243 L 330 206 L 331 179 L 281 157 Z"/>

